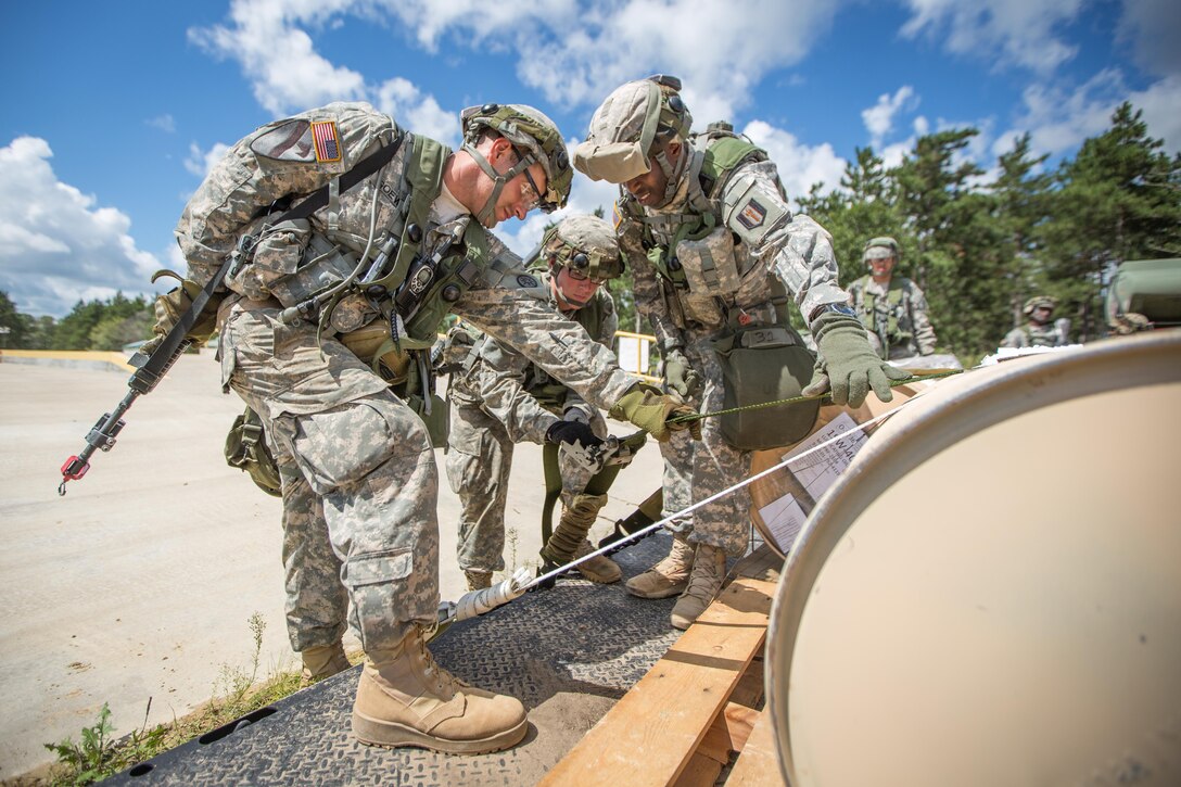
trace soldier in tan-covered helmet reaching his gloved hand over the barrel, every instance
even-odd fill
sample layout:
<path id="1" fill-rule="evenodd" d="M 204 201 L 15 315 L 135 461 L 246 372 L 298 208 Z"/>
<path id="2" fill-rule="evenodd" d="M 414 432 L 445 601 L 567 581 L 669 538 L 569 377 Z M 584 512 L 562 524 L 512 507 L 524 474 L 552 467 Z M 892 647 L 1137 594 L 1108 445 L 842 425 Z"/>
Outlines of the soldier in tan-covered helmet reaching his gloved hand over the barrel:
<path id="1" fill-rule="evenodd" d="M 837 404 L 860 405 L 870 390 L 890 399 L 889 382 L 907 375 L 870 347 L 837 285 L 829 234 L 791 215 L 763 150 L 724 125 L 691 137 L 691 125 L 679 79 L 629 82 L 595 111 L 574 156 L 593 180 L 620 184 L 620 249 L 634 272 L 637 307 L 657 334 L 667 389 L 702 411 L 744 404 L 763 383 L 781 386 L 775 398 L 787 398 L 785 382 L 798 382 L 796 394 L 831 390 Z M 820 347 L 815 373 L 788 323 L 789 301 Z M 663 444 L 665 514 L 742 480 L 749 449 L 763 447 L 759 430 L 784 425 L 778 444 L 807 435 L 815 409 L 791 408 L 769 412 L 753 429 L 727 430 L 724 417 L 706 418 L 699 443 Z M 679 594 L 672 624 L 687 627 L 718 593 L 726 555 L 744 551 L 749 506 L 740 492 L 696 509 L 687 535 L 629 580 L 628 591 Z"/>

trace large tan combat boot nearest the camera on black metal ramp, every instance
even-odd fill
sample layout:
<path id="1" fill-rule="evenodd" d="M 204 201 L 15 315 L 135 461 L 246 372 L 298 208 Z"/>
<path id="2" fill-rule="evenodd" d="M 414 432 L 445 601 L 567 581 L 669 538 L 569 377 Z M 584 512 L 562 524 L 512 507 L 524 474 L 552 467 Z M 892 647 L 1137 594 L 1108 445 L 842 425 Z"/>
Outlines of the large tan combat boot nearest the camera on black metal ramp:
<path id="1" fill-rule="evenodd" d="M 363 743 L 487 754 L 528 730 L 518 700 L 457 679 L 435 663 L 419 629 L 397 648 L 367 653 L 353 703 L 353 735 Z"/>

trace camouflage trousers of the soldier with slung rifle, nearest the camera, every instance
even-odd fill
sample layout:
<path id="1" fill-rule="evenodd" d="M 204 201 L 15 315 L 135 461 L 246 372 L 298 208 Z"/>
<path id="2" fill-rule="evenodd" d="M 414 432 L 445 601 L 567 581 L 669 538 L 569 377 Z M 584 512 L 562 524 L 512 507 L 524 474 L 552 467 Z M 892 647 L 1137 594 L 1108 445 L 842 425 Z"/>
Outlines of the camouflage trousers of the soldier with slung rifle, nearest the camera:
<path id="1" fill-rule="evenodd" d="M 332 644 L 346 620 L 366 651 L 393 646 L 438 610 L 426 428 L 344 345 L 278 313 L 235 304 L 218 352 L 223 385 L 262 417 L 282 479 L 292 648 Z"/>

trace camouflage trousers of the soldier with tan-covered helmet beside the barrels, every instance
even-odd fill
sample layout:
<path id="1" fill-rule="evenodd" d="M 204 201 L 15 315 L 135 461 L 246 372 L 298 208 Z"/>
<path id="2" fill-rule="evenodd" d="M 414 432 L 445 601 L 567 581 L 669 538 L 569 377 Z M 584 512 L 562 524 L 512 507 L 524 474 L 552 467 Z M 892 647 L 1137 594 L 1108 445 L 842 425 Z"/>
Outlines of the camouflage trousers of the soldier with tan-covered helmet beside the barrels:
<path id="1" fill-rule="evenodd" d="M 718 333 L 686 331 L 685 336 L 685 357 L 703 382 L 700 394 L 691 403 L 702 412 L 720 410 L 724 406 L 725 383 L 711 344 Z M 684 510 L 748 476 L 750 451 L 732 448 L 723 440 L 719 425 L 717 418 L 705 418 L 702 421 L 702 440 L 694 441 L 687 431 L 677 431 L 668 442 L 660 443 L 665 461 L 665 516 Z M 748 489 L 743 487 L 679 519 L 678 523 L 692 525 L 689 540 L 720 547 L 730 555 L 743 554 L 750 533 Z"/>

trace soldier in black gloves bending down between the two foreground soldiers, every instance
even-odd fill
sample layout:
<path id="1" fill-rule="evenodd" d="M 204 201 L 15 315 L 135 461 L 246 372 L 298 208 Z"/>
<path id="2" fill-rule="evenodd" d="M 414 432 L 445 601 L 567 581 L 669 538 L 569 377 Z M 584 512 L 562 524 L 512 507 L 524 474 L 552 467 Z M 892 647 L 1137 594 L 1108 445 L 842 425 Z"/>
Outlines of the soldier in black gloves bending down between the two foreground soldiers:
<path id="1" fill-rule="evenodd" d="M 535 261 L 543 266 L 540 298 L 611 349 L 619 319 L 611 295 L 599 286 L 622 273 L 611 225 L 595 216 L 565 219 L 546 233 Z M 455 336 L 465 340 L 465 334 Z M 504 506 L 513 444 L 554 442 L 559 431 L 594 443 L 607 436 L 607 424 L 578 394 L 489 337 L 476 339 L 461 363 L 448 388 L 451 432 L 446 473 L 463 508 L 459 567 L 468 587 L 476 590 L 488 587 L 492 572 L 504 568 Z M 561 456 L 567 458 L 565 451 Z M 542 557 L 556 565 L 590 551 L 586 534 L 607 503 L 606 494 L 585 494 L 590 476 L 583 466 L 562 461 L 561 475 L 566 510 L 542 547 Z M 619 566 L 602 555 L 578 568 L 596 583 L 614 583 L 621 577 Z"/>

